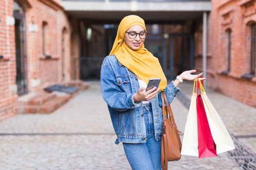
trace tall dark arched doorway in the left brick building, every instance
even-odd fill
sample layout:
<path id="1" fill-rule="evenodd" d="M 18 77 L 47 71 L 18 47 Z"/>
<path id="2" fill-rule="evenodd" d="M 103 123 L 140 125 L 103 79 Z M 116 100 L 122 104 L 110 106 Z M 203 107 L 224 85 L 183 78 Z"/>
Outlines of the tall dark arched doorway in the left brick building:
<path id="1" fill-rule="evenodd" d="M 18 95 L 28 92 L 25 54 L 25 11 L 18 2 L 14 1 L 13 16 L 15 18 L 15 44 L 16 44 L 16 85 Z"/>

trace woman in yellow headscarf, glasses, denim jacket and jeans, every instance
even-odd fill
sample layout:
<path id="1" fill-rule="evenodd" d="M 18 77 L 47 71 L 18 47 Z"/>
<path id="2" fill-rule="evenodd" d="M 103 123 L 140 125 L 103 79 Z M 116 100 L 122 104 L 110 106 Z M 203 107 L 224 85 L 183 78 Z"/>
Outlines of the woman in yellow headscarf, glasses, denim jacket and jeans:
<path id="1" fill-rule="evenodd" d="M 144 20 L 124 17 L 118 27 L 112 51 L 101 66 L 101 92 L 108 104 L 112 124 L 133 170 L 161 170 L 161 91 L 171 103 L 182 80 L 201 74 L 184 71 L 167 85 L 158 58 L 144 48 L 147 35 Z M 159 88 L 145 91 L 150 78 L 160 78 Z"/>

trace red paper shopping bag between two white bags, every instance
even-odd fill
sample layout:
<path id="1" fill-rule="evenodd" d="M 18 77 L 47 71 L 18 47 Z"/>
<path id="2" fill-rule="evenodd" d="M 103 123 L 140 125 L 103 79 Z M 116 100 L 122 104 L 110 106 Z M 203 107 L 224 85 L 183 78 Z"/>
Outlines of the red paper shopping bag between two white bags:
<path id="1" fill-rule="evenodd" d="M 199 81 L 197 79 L 197 136 L 199 158 L 217 156 L 216 145 L 211 134 L 205 113 L 202 97 L 198 94 Z"/>

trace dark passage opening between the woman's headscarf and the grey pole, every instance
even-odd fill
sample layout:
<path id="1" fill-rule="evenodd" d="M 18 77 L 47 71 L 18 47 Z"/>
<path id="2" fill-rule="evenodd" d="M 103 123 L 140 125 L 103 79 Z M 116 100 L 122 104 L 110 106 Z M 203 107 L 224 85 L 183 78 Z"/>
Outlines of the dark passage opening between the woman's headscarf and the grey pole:
<path id="1" fill-rule="evenodd" d="M 158 58 L 167 80 L 174 80 L 183 71 L 194 69 L 193 24 L 153 23 L 146 28 L 149 34 L 145 47 Z"/>

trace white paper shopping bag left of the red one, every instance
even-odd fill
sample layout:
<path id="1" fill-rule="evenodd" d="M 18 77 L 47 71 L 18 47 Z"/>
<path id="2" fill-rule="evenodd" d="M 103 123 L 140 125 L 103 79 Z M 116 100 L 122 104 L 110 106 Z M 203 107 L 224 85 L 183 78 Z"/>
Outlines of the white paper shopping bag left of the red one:
<path id="1" fill-rule="evenodd" d="M 196 81 L 194 81 L 193 94 L 191 97 L 188 117 L 186 120 L 184 135 L 182 139 L 181 154 L 198 156 L 197 138 L 197 94 L 195 91 Z"/>

